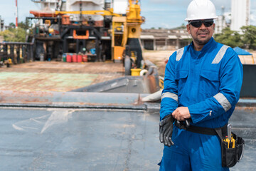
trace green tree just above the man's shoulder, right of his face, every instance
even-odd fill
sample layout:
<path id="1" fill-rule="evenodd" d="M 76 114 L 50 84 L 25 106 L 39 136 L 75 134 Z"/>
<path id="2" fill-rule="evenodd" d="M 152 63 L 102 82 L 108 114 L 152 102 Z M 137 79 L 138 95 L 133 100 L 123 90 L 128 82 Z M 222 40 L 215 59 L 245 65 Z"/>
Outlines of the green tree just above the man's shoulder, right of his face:
<path id="1" fill-rule="evenodd" d="M 242 38 L 238 31 L 231 31 L 228 27 L 223 29 L 223 33 L 216 33 L 214 38 L 215 41 L 228 45 L 232 48 L 236 46 L 241 48 L 244 47 L 244 43 L 242 43 Z"/>

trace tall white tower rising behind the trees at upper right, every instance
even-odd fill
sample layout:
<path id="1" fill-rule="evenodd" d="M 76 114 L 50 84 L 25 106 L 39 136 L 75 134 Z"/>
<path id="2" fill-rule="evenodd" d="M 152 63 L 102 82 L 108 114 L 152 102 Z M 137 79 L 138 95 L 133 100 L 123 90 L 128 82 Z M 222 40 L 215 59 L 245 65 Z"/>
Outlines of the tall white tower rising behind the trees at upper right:
<path id="1" fill-rule="evenodd" d="M 231 1 L 231 25 L 233 31 L 241 31 L 242 26 L 250 25 L 250 0 Z"/>

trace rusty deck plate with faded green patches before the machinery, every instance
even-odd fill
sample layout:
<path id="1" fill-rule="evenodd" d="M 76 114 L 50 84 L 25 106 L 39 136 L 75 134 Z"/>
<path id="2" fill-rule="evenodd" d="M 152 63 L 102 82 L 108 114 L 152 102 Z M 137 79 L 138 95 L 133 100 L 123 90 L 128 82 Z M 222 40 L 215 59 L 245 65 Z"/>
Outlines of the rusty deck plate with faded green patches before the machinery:
<path id="1" fill-rule="evenodd" d="M 0 89 L 65 92 L 124 76 L 122 63 L 31 62 L 0 68 Z"/>

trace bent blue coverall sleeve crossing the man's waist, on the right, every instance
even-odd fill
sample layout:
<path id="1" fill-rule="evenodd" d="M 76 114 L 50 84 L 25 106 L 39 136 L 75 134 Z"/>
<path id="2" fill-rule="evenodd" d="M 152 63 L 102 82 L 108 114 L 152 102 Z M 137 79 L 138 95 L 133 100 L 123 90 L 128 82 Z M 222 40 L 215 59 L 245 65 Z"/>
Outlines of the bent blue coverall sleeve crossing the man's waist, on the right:
<path id="1" fill-rule="evenodd" d="M 225 58 L 230 56 L 230 58 Z M 238 55 L 228 48 L 220 63 L 220 88 L 219 93 L 188 106 L 193 123 L 210 120 L 223 115 L 238 103 L 242 87 L 242 63 Z"/>

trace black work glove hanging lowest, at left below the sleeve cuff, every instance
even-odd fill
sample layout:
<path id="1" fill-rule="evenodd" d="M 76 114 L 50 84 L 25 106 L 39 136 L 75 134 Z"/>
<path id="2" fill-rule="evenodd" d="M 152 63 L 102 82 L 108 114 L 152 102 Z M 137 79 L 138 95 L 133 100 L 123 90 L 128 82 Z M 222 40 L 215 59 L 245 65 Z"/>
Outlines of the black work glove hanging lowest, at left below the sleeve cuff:
<path id="1" fill-rule="evenodd" d="M 159 140 L 161 143 L 164 142 L 164 145 L 171 147 L 174 145 L 174 142 L 171 140 L 171 135 L 174 128 L 174 118 L 172 115 L 166 115 L 163 120 L 159 123 Z"/>

